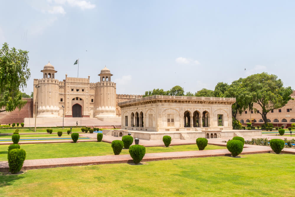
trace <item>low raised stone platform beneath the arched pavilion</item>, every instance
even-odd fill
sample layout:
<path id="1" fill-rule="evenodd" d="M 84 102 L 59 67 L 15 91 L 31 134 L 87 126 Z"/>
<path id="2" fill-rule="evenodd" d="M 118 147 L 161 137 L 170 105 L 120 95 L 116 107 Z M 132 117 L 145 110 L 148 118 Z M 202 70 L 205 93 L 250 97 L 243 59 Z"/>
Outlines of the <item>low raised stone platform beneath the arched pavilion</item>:
<path id="1" fill-rule="evenodd" d="M 258 130 L 204 130 L 204 131 L 130 131 L 125 129 L 106 129 L 102 131 L 104 135 L 109 136 L 125 136 L 131 133 L 131 136 L 144 140 L 156 140 L 163 139 L 163 136 L 171 136 L 172 139 L 189 139 L 189 138 L 223 138 L 223 137 L 235 137 L 235 136 L 261 136 L 261 131 Z"/>

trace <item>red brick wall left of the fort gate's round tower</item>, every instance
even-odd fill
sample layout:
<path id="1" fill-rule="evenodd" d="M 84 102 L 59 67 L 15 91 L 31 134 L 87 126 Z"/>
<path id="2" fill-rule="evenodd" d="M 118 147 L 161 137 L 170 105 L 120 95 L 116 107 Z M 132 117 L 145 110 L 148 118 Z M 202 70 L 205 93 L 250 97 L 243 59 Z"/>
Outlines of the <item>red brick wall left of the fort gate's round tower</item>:
<path id="1" fill-rule="evenodd" d="M 33 99 L 32 98 L 23 98 L 23 100 L 27 100 L 27 104 L 19 110 L 16 108 L 13 112 L 1 112 L 0 113 L 0 124 L 12 124 L 12 123 L 20 123 L 24 122 L 24 118 L 29 118 L 29 110 L 30 110 L 30 118 L 33 118 Z"/>

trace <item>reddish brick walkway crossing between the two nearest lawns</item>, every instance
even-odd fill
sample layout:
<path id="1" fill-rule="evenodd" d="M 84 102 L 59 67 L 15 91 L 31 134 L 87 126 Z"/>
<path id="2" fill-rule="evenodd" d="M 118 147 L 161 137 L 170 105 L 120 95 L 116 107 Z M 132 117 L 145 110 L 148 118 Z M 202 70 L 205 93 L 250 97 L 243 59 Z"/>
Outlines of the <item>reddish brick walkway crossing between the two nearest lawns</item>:
<path id="1" fill-rule="evenodd" d="M 216 144 L 224 145 L 219 142 Z M 271 153 L 269 146 L 245 145 L 241 154 L 258 154 Z M 282 153 L 295 154 L 295 149 L 284 149 Z M 183 151 L 183 152 L 163 152 L 163 153 L 147 153 L 142 162 L 159 161 L 168 159 L 186 159 L 196 157 L 215 157 L 215 156 L 230 156 L 227 149 L 204 150 L 204 151 Z M 54 158 L 54 159 L 31 159 L 25 160 L 22 170 L 52 168 L 64 166 L 80 166 L 80 165 L 98 165 L 98 164 L 114 164 L 114 163 L 133 163 L 129 154 L 123 155 L 106 155 L 106 156 L 91 156 L 91 157 L 69 157 L 69 158 Z M 8 162 L 0 162 L 0 172 L 7 172 L 9 169 Z"/>

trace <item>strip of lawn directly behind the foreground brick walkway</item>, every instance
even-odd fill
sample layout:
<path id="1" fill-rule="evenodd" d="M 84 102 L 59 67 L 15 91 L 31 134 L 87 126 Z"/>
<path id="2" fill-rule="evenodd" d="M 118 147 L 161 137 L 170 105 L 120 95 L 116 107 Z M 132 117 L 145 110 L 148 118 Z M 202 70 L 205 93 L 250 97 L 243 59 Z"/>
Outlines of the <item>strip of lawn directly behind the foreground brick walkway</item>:
<path id="1" fill-rule="evenodd" d="M 0 145 L 0 161 L 7 161 L 9 145 Z M 49 159 L 61 157 L 86 157 L 113 155 L 111 144 L 105 142 L 80 142 L 80 143 L 53 143 L 53 144 L 20 144 L 27 153 L 26 159 Z M 224 146 L 208 145 L 205 150 L 225 149 Z M 146 147 L 146 153 L 176 152 L 198 150 L 196 144 L 179 145 L 170 147 Z M 123 149 L 120 154 L 129 154 L 128 149 Z"/>

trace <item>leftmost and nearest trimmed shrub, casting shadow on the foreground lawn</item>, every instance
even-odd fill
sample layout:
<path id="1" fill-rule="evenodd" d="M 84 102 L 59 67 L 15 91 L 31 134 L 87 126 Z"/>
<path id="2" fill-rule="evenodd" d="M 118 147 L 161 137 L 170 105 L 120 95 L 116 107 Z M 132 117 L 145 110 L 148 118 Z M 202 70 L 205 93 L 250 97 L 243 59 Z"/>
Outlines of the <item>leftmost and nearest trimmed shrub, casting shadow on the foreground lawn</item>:
<path id="1" fill-rule="evenodd" d="M 9 172 L 12 174 L 19 172 L 22 169 L 24 160 L 26 159 L 26 152 L 24 149 L 12 149 L 7 154 Z"/>

